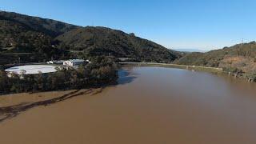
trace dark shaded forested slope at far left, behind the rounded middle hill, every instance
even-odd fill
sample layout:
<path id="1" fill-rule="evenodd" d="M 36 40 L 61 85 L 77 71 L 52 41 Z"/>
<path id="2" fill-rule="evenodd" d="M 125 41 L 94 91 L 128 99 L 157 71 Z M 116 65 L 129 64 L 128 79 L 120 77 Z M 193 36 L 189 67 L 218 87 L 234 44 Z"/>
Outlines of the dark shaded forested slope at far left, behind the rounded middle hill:
<path id="1" fill-rule="evenodd" d="M 54 40 L 77 26 L 0 11 L 0 64 L 44 62 L 68 55 Z"/>

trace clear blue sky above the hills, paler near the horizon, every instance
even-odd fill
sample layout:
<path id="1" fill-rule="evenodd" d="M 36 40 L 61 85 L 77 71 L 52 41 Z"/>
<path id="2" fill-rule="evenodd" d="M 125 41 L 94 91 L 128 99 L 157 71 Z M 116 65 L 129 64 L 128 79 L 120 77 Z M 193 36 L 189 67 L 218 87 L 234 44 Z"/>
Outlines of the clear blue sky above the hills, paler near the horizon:
<path id="1" fill-rule="evenodd" d="M 255 0 L 0 0 L 0 10 L 107 26 L 174 49 L 256 40 Z"/>

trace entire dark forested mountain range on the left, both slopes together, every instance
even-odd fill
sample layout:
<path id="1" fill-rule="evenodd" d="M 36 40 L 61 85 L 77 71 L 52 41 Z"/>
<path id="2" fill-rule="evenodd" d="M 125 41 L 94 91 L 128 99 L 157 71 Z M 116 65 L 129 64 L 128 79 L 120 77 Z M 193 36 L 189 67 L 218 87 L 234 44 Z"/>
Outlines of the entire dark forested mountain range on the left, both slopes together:
<path id="1" fill-rule="evenodd" d="M 78 53 L 74 53 L 74 51 Z M 172 62 L 179 52 L 106 27 L 82 27 L 0 11 L 0 64 L 44 62 L 78 54 L 111 55 L 147 62 Z"/>

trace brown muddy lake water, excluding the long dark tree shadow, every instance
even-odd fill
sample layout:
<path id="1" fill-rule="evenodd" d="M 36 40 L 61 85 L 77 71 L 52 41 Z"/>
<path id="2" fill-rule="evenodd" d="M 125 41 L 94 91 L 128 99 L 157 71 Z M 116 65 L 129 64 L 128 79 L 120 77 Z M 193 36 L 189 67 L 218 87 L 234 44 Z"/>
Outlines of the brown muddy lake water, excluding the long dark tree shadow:
<path id="1" fill-rule="evenodd" d="M 163 67 L 126 68 L 119 75 L 117 86 L 36 106 L 1 122 L 0 143 L 256 143 L 254 83 Z M 54 92 L 54 98 L 58 93 L 69 91 Z M 51 93 L 39 95 L 3 96 L 0 103 L 38 102 Z"/>

